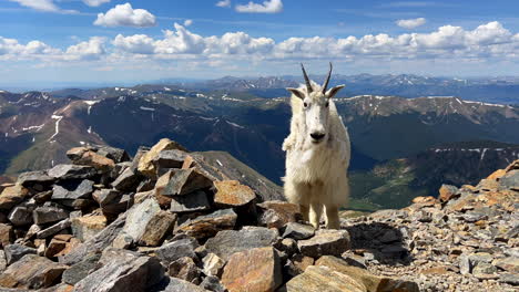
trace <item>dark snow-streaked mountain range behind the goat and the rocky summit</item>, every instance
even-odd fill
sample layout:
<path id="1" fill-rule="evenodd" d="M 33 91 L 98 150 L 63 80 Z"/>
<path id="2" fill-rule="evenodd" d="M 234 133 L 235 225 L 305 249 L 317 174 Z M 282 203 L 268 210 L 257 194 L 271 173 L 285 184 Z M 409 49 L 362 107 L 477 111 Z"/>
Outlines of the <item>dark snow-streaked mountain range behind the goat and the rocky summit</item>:
<path id="1" fill-rule="evenodd" d="M 297 82 L 225 77 L 204 84 L 0 92 L 0 173 L 52 167 L 73 146 L 134 154 L 139 145 L 170 137 L 192 150 L 228 152 L 281 184 L 291 117 L 283 87 Z M 404 206 L 418 194 L 436 195 L 439 181 L 470 184 L 519 157 L 519 107 L 511 104 L 394 95 L 335 102 L 352 137 L 354 197 L 366 201 L 358 209 Z"/>

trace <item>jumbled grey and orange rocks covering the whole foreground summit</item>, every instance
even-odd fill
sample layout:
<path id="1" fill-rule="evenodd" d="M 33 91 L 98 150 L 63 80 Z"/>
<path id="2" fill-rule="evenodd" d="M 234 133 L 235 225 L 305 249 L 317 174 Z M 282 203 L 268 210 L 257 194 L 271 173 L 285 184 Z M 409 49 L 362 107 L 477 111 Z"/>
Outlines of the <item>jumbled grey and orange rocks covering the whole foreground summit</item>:
<path id="1" fill-rule="evenodd" d="M 0 291 L 517 291 L 519 160 L 314 230 L 260 174 L 162 139 L 0 189 Z M 223 163 L 222 163 L 223 161 Z"/>

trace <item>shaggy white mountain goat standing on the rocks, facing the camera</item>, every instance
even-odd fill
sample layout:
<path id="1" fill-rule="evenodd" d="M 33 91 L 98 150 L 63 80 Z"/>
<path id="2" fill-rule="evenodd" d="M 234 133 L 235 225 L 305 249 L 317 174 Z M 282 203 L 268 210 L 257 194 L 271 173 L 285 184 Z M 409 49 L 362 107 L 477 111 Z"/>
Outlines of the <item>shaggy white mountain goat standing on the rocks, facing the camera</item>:
<path id="1" fill-rule="evenodd" d="M 338 208 L 346 205 L 349 196 L 346 171 L 350 145 L 333 97 L 344 85 L 327 91 L 332 63 L 323 86 L 309 81 L 301 66 L 306 86 L 287 88 L 292 93 L 292 119 L 291 134 L 283 143 L 285 197 L 299 205 L 304 219 L 315 228 L 319 227 L 324 207 L 326 228 L 338 229 Z"/>

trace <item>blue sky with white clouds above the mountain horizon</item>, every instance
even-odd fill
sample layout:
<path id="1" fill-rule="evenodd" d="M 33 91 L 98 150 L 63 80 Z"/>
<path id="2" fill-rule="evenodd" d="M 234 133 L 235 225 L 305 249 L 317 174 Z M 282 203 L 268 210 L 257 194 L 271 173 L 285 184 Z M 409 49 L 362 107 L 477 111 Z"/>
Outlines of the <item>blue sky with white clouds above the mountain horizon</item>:
<path id="1" fill-rule="evenodd" d="M 101 14 L 102 13 L 102 14 Z M 0 0 L 0 85 L 519 75 L 519 1 Z"/>

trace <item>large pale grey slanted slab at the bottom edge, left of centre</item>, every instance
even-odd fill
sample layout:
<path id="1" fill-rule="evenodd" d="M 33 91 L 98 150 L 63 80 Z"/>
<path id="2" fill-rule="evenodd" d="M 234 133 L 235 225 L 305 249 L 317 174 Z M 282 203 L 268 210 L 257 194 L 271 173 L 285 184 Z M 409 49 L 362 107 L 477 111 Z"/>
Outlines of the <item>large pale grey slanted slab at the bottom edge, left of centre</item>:
<path id="1" fill-rule="evenodd" d="M 105 253 L 103 252 L 104 257 Z M 103 261 L 103 258 L 101 259 Z M 74 291 L 135 291 L 144 292 L 164 277 L 164 268 L 157 259 L 150 257 L 126 257 L 105 259 L 103 267 L 95 270 L 74 285 Z"/>

